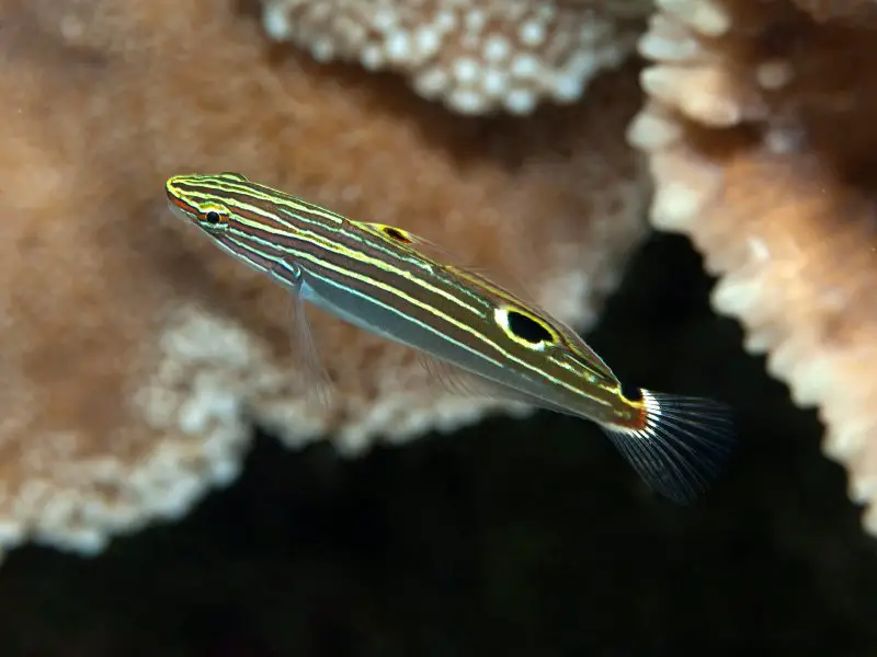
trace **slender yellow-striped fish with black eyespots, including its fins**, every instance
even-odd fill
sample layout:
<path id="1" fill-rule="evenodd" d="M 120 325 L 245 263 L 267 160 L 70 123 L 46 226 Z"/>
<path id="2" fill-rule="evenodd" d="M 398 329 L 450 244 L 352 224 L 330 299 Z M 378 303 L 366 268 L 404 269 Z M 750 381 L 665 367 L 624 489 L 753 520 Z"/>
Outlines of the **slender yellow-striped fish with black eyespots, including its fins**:
<path id="1" fill-rule="evenodd" d="M 294 346 L 315 385 L 328 378 L 306 302 L 418 349 L 449 385 L 477 383 L 498 399 L 597 423 L 640 476 L 677 503 L 699 495 L 729 454 L 725 405 L 623 384 L 571 328 L 418 235 L 350 220 L 238 173 L 175 175 L 166 187 L 175 214 L 293 292 Z"/>

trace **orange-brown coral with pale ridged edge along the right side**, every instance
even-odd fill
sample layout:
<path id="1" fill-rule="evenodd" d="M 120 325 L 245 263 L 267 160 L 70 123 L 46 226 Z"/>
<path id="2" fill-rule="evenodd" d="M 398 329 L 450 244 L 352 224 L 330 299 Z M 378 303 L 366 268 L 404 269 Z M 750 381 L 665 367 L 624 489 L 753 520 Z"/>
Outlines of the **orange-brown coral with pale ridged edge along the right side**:
<path id="1" fill-rule="evenodd" d="M 650 157 L 653 223 L 692 237 L 722 275 L 716 309 L 819 407 L 877 533 L 877 32 L 869 3 L 798 4 L 816 19 L 788 1 L 659 2 L 629 137 Z"/>

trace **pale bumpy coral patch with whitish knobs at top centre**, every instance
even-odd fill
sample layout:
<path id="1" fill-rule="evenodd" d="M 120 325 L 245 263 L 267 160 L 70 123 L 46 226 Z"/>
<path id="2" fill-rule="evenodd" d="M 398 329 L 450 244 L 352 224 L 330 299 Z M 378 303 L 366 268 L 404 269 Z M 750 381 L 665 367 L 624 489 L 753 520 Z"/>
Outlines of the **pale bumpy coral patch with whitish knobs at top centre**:
<path id="1" fill-rule="evenodd" d="M 392 70 L 455 112 L 580 100 L 633 51 L 651 0 L 262 0 L 265 31 L 319 61 Z"/>

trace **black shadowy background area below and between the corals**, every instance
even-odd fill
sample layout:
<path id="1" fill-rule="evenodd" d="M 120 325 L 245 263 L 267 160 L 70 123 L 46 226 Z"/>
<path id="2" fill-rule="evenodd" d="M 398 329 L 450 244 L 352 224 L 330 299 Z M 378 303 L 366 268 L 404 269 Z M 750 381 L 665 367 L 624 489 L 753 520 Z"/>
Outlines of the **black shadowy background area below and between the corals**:
<path id="1" fill-rule="evenodd" d="M 687 241 L 653 237 L 590 344 L 726 400 L 743 439 L 697 505 L 594 426 L 539 413 L 339 460 L 260 436 L 241 479 L 99 558 L 0 567 L 0 657 L 554 657 L 877 652 L 877 541 Z"/>

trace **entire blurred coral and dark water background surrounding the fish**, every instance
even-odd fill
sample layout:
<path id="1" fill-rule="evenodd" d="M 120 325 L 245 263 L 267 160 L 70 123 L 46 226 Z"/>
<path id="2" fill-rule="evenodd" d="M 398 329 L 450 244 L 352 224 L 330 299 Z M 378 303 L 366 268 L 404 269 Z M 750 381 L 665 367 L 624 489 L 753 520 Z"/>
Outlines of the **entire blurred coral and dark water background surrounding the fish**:
<path id="1" fill-rule="evenodd" d="M 877 4 L 0 0 L 0 657 L 877 650 Z M 726 400 L 691 508 L 170 217 L 240 171 Z M 682 233 L 684 237 L 669 233 Z"/>

